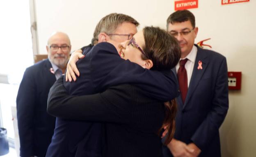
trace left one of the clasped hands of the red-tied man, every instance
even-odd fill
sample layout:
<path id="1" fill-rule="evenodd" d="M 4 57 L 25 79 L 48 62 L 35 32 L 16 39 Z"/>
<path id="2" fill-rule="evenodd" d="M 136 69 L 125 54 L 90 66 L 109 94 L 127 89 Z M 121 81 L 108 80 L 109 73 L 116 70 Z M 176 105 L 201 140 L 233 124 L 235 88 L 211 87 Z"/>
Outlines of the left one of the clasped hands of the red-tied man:
<path id="1" fill-rule="evenodd" d="M 194 157 L 194 149 L 190 148 L 184 142 L 172 139 L 167 145 L 174 157 Z"/>

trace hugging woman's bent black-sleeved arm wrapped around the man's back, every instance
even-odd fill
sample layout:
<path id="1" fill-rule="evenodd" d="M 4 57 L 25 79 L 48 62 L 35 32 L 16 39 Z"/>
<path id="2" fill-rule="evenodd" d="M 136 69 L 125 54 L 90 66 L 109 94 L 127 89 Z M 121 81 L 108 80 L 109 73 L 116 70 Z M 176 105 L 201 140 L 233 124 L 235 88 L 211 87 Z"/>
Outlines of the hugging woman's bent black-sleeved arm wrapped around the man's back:
<path id="1" fill-rule="evenodd" d="M 134 91 L 133 86 L 123 84 L 103 93 L 71 96 L 62 76 L 50 89 L 47 112 L 66 119 L 126 123 L 135 102 Z"/>

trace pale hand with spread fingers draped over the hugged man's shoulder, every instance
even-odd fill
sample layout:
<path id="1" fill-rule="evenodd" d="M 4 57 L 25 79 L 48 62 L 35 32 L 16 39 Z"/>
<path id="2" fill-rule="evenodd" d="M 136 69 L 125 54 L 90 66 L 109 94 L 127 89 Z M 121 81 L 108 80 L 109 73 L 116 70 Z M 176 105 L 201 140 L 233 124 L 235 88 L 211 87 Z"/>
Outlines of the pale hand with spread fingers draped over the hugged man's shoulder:
<path id="1" fill-rule="evenodd" d="M 82 50 L 76 50 L 75 52 L 73 52 L 70 56 L 69 62 L 67 64 L 67 68 L 66 68 L 66 82 L 69 80 L 69 82 L 72 81 L 72 78 L 74 81 L 76 81 L 76 77 L 75 75 L 80 75 L 77 67 L 76 67 L 76 62 L 81 59 L 84 58 L 85 55 L 82 54 Z"/>

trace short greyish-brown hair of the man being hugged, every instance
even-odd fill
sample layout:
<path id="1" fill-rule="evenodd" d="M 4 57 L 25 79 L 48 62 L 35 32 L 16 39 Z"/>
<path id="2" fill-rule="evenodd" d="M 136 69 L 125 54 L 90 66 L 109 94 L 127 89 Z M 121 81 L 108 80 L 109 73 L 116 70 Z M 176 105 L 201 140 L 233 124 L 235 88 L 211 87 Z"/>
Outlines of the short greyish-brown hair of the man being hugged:
<path id="1" fill-rule="evenodd" d="M 111 13 L 109 15 L 106 15 L 104 18 L 102 18 L 98 22 L 94 30 L 91 44 L 95 45 L 98 43 L 98 35 L 100 33 L 106 33 L 106 34 L 113 33 L 117 29 L 117 27 L 123 22 L 130 22 L 132 24 L 135 24 L 135 26 L 139 25 L 139 22 L 137 22 L 134 18 L 128 15 L 125 15 L 122 13 Z"/>

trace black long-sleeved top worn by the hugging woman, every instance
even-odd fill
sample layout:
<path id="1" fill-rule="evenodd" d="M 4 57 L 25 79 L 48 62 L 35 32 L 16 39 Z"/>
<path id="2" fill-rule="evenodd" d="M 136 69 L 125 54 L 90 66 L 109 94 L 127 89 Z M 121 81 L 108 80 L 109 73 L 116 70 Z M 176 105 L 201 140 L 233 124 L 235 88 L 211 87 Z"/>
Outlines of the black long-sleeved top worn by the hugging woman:
<path id="1" fill-rule="evenodd" d="M 162 157 L 158 129 L 165 117 L 163 103 L 130 84 L 103 93 L 70 96 L 62 80 L 51 88 L 48 112 L 57 117 L 105 123 L 104 157 Z"/>

